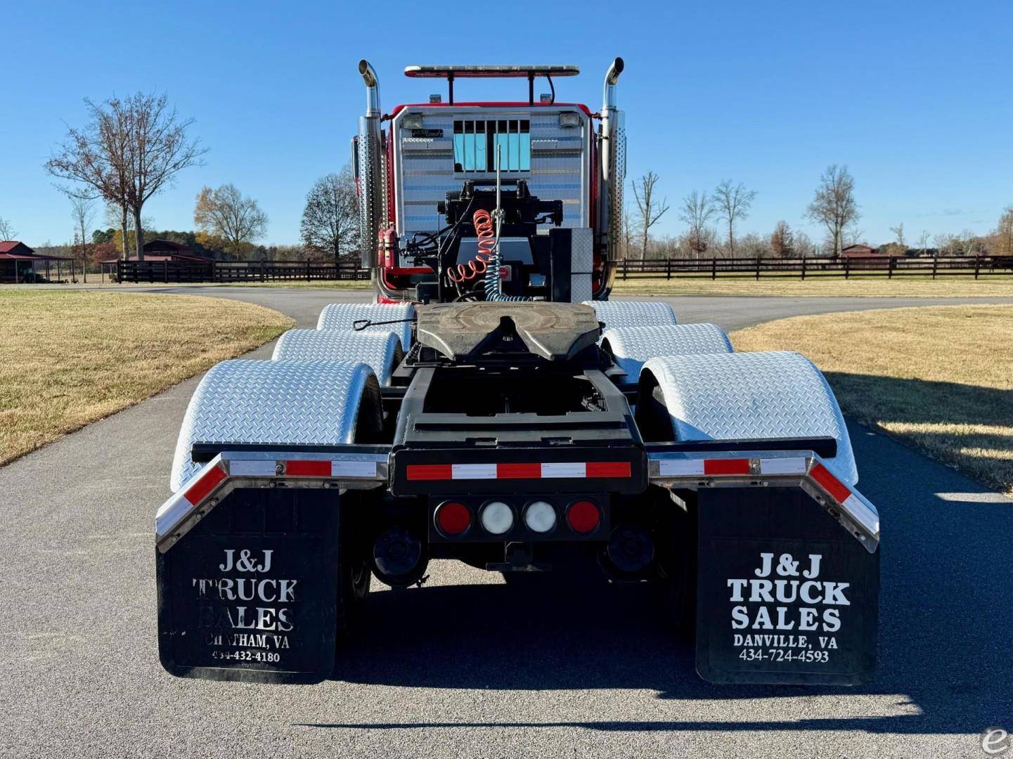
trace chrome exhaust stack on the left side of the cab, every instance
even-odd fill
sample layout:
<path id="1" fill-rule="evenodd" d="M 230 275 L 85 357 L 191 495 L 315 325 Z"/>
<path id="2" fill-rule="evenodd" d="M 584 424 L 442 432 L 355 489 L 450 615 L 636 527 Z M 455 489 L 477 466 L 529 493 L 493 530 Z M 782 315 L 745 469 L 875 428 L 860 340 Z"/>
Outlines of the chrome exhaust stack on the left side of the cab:
<path id="1" fill-rule="evenodd" d="M 364 269 L 377 265 L 377 244 L 383 219 L 383 139 L 380 134 L 380 83 L 370 62 L 359 62 L 366 83 L 366 115 L 359 117 L 359 246 Z"/>

